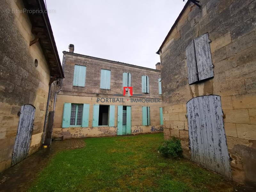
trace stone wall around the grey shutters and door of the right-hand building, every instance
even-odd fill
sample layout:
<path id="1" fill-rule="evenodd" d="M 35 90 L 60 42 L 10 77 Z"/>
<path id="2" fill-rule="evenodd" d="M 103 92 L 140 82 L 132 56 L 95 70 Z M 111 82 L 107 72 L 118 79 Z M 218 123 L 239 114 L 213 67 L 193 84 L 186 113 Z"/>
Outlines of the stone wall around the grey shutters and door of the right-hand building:
<path id="1" fill-rule="evenodd" d="M 189 3 L 160 52 L 164 138 L 181 138 L 189 157 L 186 103 L 220 95 L 232 177 L 256 184 L 256 1 L 201 0 Z M 214 78 L 188 85 L 186 47 L 209 33 Z"/>

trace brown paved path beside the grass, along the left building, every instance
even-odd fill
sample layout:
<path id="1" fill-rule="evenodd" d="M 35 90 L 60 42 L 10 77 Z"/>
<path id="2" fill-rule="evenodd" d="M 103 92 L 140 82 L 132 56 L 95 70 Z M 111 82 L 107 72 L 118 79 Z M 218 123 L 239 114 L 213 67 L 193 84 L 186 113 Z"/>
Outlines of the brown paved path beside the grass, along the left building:
<path id="1" fill-rule="evenodd" d="M 19 164 L 0 173 L 0 191 L 27 191 L 37 174 L 44 169 L 49 160 L 59 151 L 83 148 L 84 139 L 52 141 L 49 148 L 43 148 Z"/>

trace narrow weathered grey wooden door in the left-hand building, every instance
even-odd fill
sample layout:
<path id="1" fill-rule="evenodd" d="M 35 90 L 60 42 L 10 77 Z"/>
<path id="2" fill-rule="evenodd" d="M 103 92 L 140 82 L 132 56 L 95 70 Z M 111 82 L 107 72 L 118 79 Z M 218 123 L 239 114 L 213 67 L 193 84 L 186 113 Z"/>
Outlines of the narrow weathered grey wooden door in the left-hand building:
<path id="1" fill-rule="evenodd" d="M 33 123 L 36 108 L 32 105 L 22 105 L 20 120 L 12 152 L 12 165 L 15 165 L 28 156 L 28 151 L 33 132 Z"/>

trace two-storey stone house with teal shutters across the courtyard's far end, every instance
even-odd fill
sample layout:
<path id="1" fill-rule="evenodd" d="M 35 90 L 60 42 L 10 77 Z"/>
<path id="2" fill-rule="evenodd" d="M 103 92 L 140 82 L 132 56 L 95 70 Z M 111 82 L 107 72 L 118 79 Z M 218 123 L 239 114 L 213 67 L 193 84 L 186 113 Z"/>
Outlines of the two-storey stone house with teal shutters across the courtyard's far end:
<path id="1" fill-rule="evenodd" d="M 81 55 L 73 44 L 62 63 L 65 79 L 57 94 L 53 137 L 163 131 L 160 63 L 151 69 Z"/>

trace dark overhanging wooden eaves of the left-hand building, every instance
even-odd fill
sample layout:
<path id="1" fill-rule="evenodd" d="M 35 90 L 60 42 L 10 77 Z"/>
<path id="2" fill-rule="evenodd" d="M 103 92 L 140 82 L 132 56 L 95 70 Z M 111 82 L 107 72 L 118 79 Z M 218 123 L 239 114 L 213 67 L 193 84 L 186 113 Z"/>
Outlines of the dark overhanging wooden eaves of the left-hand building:
<path id="1" fill-rule="evenodd" d="M 32 11 L 30 11 L 31 13 L 28 12 L 28 17 L 32 24 L 31 32 L 39 37 L 38 41 L 50 68 L 50 75 L 64 78 L 44 0 L 23 0 L 23 3 L 27 10 L 34 10 L 33 13 Z"/>

